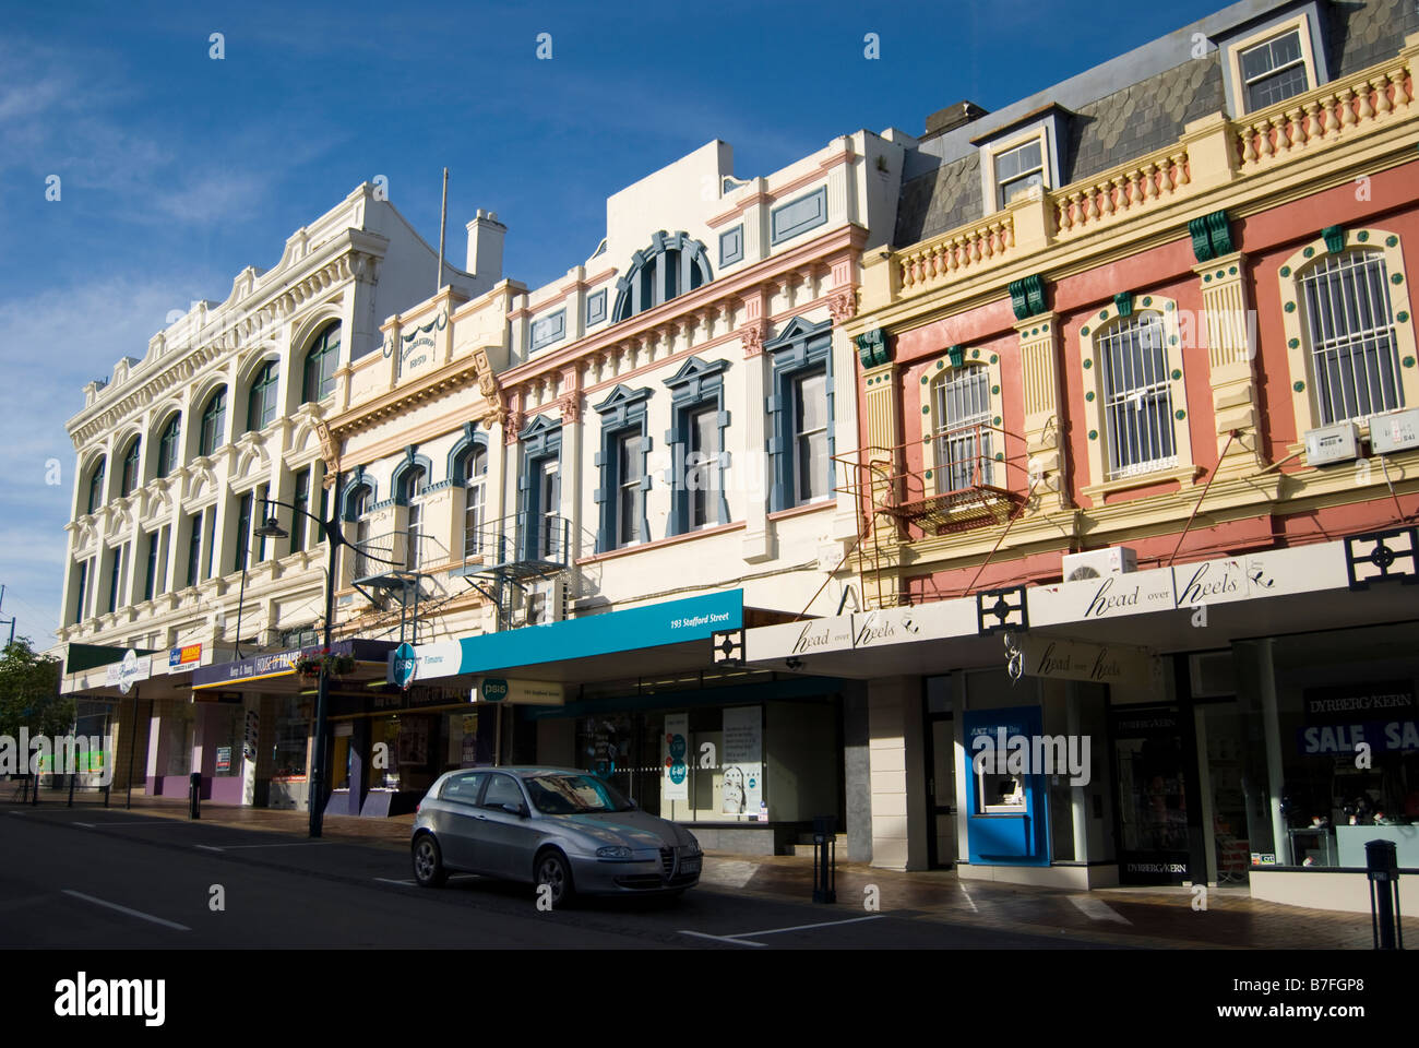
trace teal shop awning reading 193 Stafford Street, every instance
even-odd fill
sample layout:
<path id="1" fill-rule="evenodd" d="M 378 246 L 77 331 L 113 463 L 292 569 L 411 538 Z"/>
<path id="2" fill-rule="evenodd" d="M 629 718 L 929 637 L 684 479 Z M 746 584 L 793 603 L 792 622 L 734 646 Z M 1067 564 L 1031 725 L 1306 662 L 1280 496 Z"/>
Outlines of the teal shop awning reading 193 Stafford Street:
<path id="1" fill-rule="evenodd" d="M 744 591 L 480 633 L 414 648 L 413 680 L 498 673 L 592 682 L 711 663 L 711 638 L 744 626 Z M 525 672 L 524 672 L 525 670 Z"/>

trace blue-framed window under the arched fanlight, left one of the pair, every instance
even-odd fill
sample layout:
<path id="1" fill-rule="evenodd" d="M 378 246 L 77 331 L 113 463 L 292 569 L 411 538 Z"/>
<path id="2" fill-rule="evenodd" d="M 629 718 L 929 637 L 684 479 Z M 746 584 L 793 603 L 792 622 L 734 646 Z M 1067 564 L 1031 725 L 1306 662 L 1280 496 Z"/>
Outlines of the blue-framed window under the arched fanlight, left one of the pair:
<path id="1" fill-rule="evenodd" d="M 650 396 L 648 389 L 616 386 L 596 406 L 602 416 L 602 447 L 596 453 L 600 487 L 595 494 L 600 506 L 597 552 L 650 540 L 650 523 L 646 517 L 646 491 L 651 483 L 646 473 L 646 456 L 650 452 L 646 405 Z"/>

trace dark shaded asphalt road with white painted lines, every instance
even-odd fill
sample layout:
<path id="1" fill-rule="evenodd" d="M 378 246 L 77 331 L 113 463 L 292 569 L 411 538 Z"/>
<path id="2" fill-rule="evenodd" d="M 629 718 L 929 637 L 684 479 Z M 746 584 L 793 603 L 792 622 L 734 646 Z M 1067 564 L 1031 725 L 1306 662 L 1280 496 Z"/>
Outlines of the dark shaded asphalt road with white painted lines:
<path id="1" fill-rule="evenodd" d="M 420 889 L 407 855 L 387 848 L 95 808 L 0 808 L 0 947 L 1081 946 L 718 886 L 543 913 L 525 885 L 461 876 Z"/>

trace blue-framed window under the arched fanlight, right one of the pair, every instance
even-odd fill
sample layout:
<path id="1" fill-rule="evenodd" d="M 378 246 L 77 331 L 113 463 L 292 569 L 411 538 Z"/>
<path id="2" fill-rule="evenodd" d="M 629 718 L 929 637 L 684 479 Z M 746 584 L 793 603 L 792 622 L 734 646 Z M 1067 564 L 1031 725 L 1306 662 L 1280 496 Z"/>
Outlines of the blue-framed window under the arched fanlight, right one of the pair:
<path id="1" fill-rule="evenodd" d="M 691 356 L 666 385 L 671 391 L 671 419 L 666 433 L 670 444 L 671 486 L 670 534 L 729 523 L 729 500 L 724 490 L 725 429 L 724 372 L 729 361 L 705 362 Z"/>

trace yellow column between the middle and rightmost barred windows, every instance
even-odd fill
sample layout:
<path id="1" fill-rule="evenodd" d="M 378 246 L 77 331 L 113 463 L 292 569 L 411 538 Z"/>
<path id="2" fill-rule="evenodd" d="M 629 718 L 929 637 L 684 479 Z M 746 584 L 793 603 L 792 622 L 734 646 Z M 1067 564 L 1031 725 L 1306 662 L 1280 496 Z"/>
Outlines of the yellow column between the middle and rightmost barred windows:
<path id="1" fill-rule="evenodd" d="M 1257 435 L 1256 312 L 1246 293 L 1246 256 L 1236 250 L 1226 212 L 1213 212 L 1188 223 L 1192 271 L 1202 281 L 1202 312 L 1206 320 L 1208 364 L 1212 383 L 1212 415 L 1216 425 L 1218 467 L 1222 480 L 1246 476 L 1263 466 Z M 1193 325 L 1193 338 L 1203 325 Z M 1189 348 L 1183 341 L 1183 351 Z M 1237 437 L 1232 439 L 1232 432 Z M 1230 444 L 1229 444 L 1230 440 Z M 1226 456 L 1223 457 L 1223 449 Z"/>

